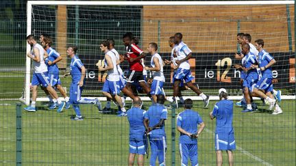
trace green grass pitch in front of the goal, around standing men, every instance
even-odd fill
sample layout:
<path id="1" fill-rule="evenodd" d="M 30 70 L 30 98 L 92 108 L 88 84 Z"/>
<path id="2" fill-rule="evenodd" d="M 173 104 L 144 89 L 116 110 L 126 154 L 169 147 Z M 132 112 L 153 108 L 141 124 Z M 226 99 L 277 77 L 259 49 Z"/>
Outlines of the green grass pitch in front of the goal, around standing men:
<path id="1" fill-rule="evenodd" d="M 260 104 L 259 101 L 257 101 Z M 0 163 L 16 162 L 16 105 L 15 101 L 0 102 Z M 194 102 L 206 129 L 199 137 L 199 165 L 215 165 L 214 126 L 202 102 Z M 145 102 L 145 108 L 150 102 Z M 129 126 L 126 117 L 100 114 L 93 105 L 82 105 L 84 121 L 70 120 L 73 109 L 57 113 L 42 107 L 38 111 L 22 111 L 23 165 L 127 165 Z M 234 108 L 236 165 L 295 165 L 295 101 L 281 103 L 284 113 L 271 115 L 267 106 L 259 106 L 258 113 L 241 113 Z M 24 106 L 23 106 L 24 107 Z M 114 106 L 113 106 L 114 107 Z M 182 109 L 177 109 L 177 112 Z M 115 112 L 115 111 L 114 111 Z M 167 165 L 171 165 L 171 110 L 166 120 Z M 175 158 L 180 165 L 179 133 L 176 132 Z M 224 163 L 227 156 L 224 154 Z M 149 161 L 145 158 L 145 165 Z"/>

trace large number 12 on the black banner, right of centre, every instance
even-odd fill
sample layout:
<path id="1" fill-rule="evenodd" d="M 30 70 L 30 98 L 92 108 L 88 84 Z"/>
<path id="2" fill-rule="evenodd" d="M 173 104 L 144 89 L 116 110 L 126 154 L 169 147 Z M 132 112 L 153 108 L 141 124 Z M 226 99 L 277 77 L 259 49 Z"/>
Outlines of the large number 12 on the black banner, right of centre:
<path id="1" fill-rule="evenodd" d="M 225 57 L 222 60 L 219 59 L 215 65 L 217 66 L 217 81 L 231 83 L 231 77 L 227 77 L 226 75 L 230 71 L 230 68 L 232 66 L 232 59 L 230 59 L 229 57 Z M 225 65 L 227 67 L 221 76 L 221 68 L 223 68 L 223 66 Z"/>

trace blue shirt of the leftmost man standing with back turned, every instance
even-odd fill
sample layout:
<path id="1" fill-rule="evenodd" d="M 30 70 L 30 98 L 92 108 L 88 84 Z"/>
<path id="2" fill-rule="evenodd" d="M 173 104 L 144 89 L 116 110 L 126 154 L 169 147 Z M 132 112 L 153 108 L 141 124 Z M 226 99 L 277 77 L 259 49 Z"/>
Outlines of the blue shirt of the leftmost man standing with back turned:
<path id="1" fill-rule="evenodd" d="M 127 110 L 127 120 L 130 123 L 130 138 L 143 140 L 145 135 L 144 115 L 146 111 L 138 107 Z"/>

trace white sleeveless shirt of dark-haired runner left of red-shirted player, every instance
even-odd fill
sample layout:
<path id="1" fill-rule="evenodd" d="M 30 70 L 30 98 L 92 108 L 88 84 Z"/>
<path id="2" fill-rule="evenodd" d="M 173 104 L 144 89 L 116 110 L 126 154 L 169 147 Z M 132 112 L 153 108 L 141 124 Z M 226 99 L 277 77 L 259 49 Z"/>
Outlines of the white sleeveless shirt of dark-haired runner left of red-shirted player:
<path id="1" fill-rule="evenodd" d="M 108 81 L 119 81 L 119 72 L 118 72 L 117 67 L 116 67 L 116 55 L 115 55 L 115 53 L 112 53 L 112 51 L 108 51 L 106 53 L 106 56 L 111 57 L 111 61 L 112 61 L 112 64 L 113 64 L 113 69 L 108 70 L 108 72 L 107 72 Z M 106 58 L 105 58 L 104 63 L 105 63 L 105 66 L 108 66 Z"/>

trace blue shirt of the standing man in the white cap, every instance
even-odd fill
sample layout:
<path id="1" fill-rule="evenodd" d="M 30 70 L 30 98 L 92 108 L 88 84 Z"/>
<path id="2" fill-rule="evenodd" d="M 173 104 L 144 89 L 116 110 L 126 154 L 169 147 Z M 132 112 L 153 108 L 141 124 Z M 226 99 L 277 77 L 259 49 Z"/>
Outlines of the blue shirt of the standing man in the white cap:
<path id="1" fill-rule="evenodd" d="M 233 131 L 233 102 L 221 100 L 214 105 L 212 115 L 216 117 L 216 133 L 225 134 Z"/>

